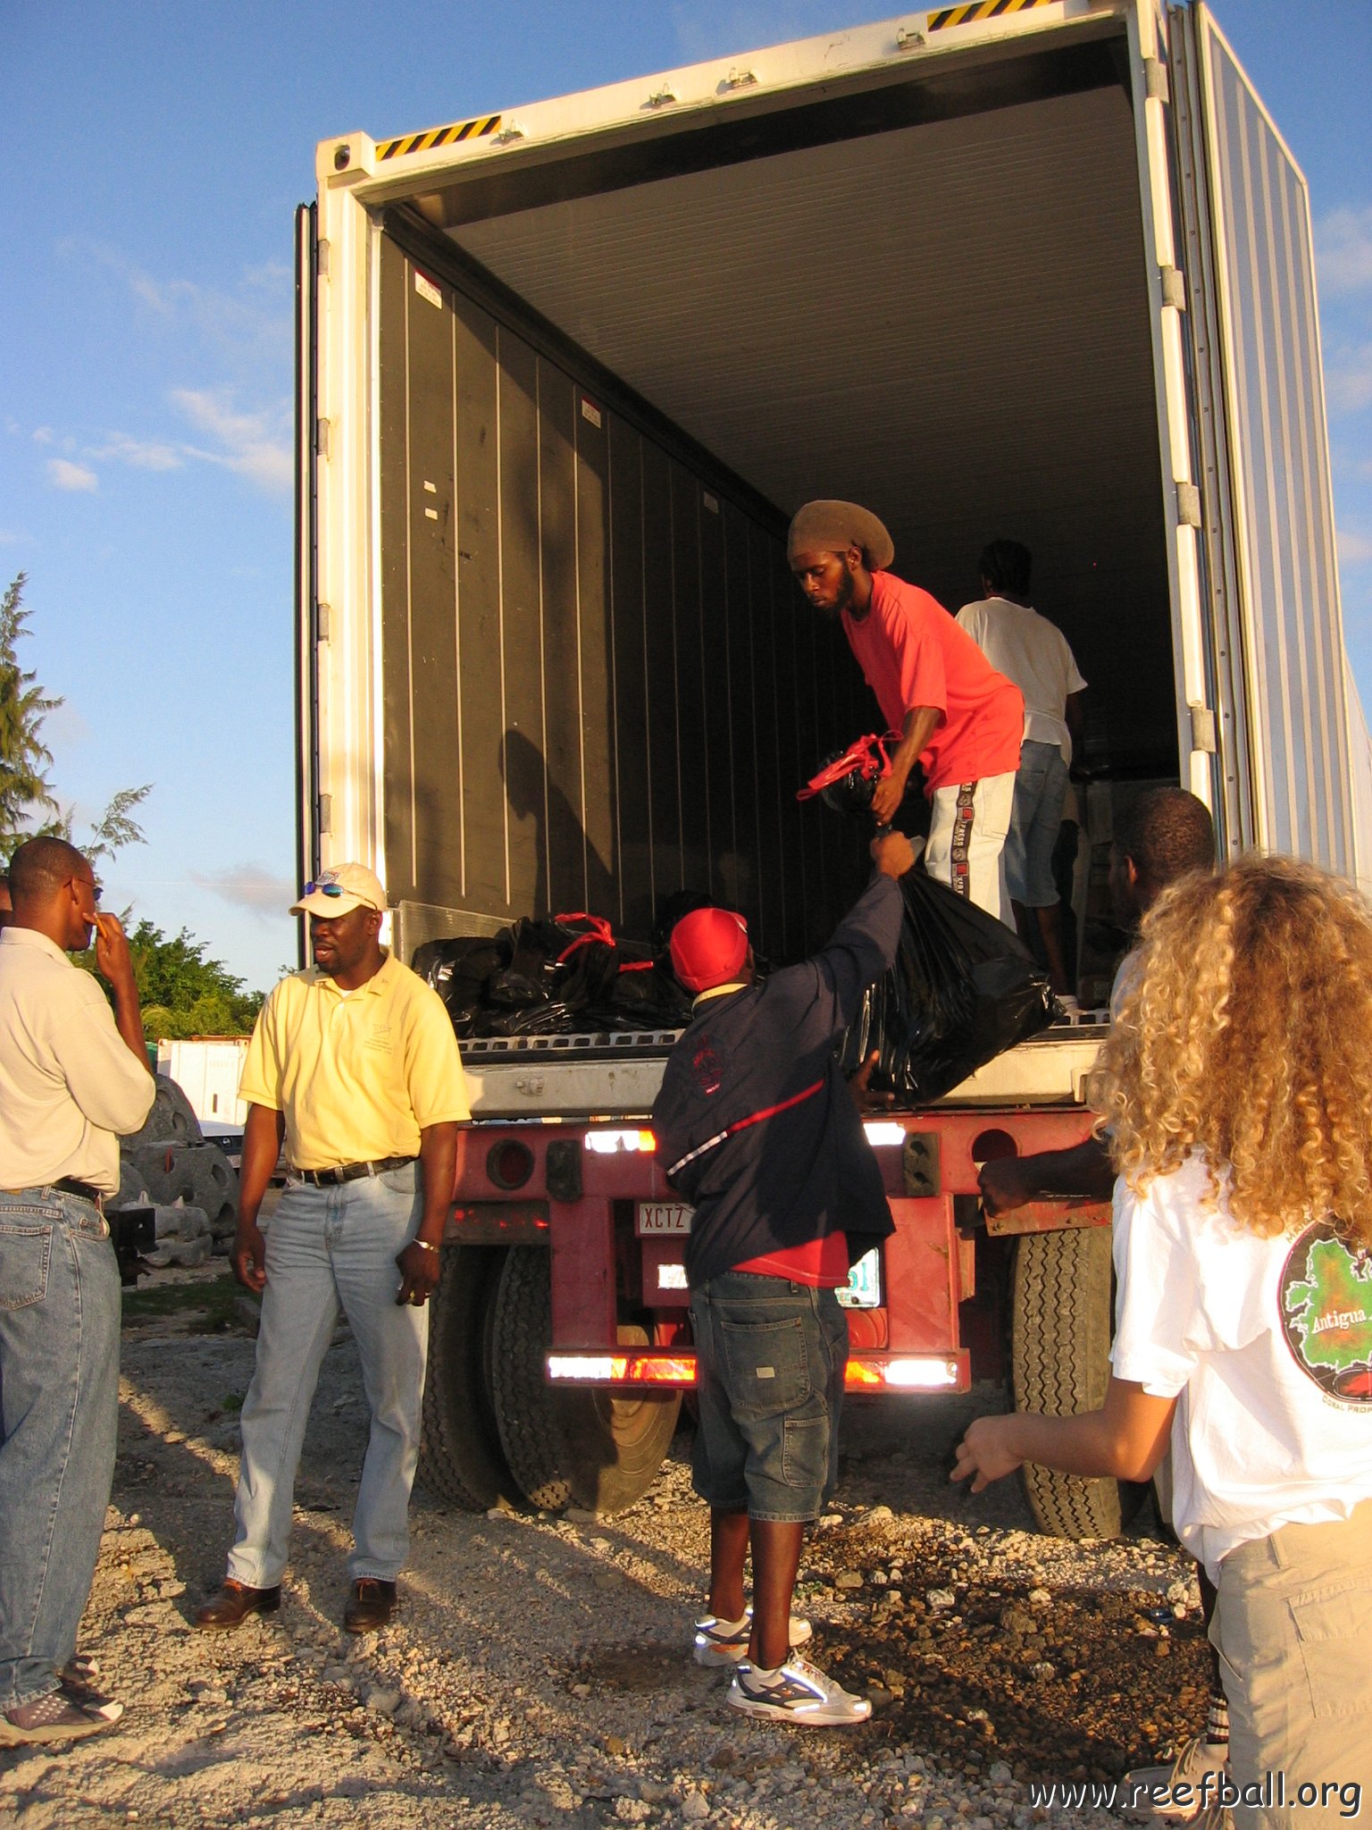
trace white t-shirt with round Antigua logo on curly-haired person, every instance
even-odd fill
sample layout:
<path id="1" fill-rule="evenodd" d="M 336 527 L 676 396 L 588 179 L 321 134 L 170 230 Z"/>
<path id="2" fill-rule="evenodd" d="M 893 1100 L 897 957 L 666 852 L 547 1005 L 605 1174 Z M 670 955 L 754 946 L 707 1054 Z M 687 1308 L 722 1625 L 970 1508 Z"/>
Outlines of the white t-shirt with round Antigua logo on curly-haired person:
<path id="1" fill-rule="evenodd" d="M 1235 1226 L 1204 1157 L 1114 1186 L 1114 1374 L 1176 1398 L 1173 1524 L 1211 1579 L 1282 1524 L 1372 1499 L 1372 1254 Z"/>

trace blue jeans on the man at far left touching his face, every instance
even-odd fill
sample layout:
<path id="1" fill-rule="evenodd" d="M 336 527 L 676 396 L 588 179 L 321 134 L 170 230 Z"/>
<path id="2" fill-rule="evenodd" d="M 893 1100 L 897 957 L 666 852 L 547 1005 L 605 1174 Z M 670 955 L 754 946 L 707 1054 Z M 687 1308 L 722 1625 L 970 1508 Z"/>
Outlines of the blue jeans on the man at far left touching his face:
<path id="1" fill-rule="evenodd" d="M 0 1709 L 77 1649 L 119 1429 L 119 1266 L 88 1200 L 0 1193 Z"/>

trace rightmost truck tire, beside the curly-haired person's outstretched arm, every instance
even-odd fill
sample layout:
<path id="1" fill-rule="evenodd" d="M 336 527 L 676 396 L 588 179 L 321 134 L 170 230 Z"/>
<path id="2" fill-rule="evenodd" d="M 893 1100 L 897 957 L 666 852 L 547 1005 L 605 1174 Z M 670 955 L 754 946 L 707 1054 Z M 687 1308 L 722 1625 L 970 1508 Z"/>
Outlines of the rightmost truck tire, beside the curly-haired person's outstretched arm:
<path id="1" fill-rule="evenodd" d="M 1105 1402 L 1110 1268 L 1109 1226 L 1019 1239 L 1010 1336 L 1015 1409 L 1076 1416 Z M 1034 1462 L 1024 1462 L 1021 1477 L 1030 1512 L 1052 1537 L 1118 1537 L 1147 1491 Z"/>

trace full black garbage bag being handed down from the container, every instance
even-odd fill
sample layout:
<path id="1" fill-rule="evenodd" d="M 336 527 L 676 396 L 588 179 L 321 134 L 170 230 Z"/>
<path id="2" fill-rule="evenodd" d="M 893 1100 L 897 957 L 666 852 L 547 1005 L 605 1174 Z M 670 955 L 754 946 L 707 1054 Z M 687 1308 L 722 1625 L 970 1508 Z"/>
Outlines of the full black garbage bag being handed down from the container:
<path id="1" fill-rule="evenodd" d="M 1052 1023 L 1054 997 L 1004 922 L 918 867 L 900 889 L 896 963 L 865 994 L 840 1060 L 852 1074 L 876 1050 L 873 1085 L 924 1103 L 1037 1036 Z"/>

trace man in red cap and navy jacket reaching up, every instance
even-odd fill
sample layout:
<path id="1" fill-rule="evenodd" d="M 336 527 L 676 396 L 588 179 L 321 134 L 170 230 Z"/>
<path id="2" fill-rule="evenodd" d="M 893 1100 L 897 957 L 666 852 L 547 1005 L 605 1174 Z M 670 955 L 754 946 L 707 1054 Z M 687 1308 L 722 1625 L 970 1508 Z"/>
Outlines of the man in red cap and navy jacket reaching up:
<path id="1" fill-rule="evenodd" d="M 832 1486 L 847 1363 L 836 1290 L 893 1232 L 862 1118 L 834 1054 L 862 994 L 895 964 L 915 864 L 900 833 L 812 959 L 756 983 L 748 930 L 695 910 L 671 963 L 695 992 L 653 1107 L 657 1155 L 695 1213 L 686 1246 L 701 1426 L 695 1490 L 710 1504 L 710 1612 L 695 1658 L 735 1667 L 730 1704 L 810 1724 L 862 1722 L 851 1696 L 798 1656 L 790 1618 L 805 1524 Z M 752 1545 L 754 1610 L 743 1601 Z"/>

